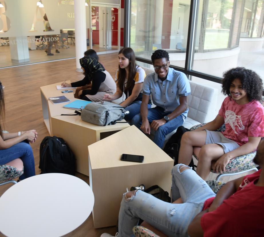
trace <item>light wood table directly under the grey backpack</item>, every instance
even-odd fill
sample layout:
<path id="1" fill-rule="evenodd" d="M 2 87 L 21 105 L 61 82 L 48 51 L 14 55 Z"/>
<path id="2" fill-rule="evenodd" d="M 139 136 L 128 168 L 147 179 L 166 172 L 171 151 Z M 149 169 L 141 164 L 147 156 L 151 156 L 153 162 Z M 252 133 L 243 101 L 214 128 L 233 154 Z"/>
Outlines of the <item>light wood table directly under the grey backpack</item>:
<path id="1" fill-rule="evenodd" d="M 66 110 L 74 112 L 72 109 Z M 77 163 L 76 171 L 87 176 L 89 176 L 88 145 L 130 126 L 126 122 L 98 126 L 82 121 L 79 115 L 51 117 L 51 124 L 53 136 L 63 138 L 74 153 Z"/>

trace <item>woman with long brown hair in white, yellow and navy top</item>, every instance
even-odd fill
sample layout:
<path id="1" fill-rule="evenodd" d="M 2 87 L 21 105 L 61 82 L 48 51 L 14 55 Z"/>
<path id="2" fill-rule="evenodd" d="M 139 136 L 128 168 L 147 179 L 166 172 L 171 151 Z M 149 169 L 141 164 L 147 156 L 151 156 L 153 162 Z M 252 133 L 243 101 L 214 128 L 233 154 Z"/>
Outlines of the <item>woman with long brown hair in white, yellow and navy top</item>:
<path id="1" fill-rule="evenodd" d="M 140 113 L 142 86 L 146 74 L 141 67 L 136 65 L 135 53 L 131 48 L 123 48 L 119 51 L 118 62 L 119 67 L 115 75 L 117 91 L 114 95 L 106 94 L 103 99 L 113 101 L 124 93 L 125 100 L 120 105 L 129 111 L 129 115 L 126 115 L 125 119 L 131 120 Z M 148 104 L 148 108 L 150 107 L 151 101 Z"/>

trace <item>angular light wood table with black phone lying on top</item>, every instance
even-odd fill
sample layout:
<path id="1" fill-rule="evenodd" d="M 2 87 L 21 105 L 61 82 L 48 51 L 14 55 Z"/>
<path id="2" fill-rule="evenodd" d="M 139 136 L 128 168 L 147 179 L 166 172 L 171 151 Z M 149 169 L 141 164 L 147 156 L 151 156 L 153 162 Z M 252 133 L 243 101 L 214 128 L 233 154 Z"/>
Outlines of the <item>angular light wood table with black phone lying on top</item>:
<path id="1" fill-rule="evenodd" d="M 135 126 L 89 145 L 88 151 L 94 228 L 117 224 L 123 193 L 131 186 L 157 184 L 170 193 L 174 161 Z M 144 161 L 121 161 L 122 154 L 143 155 Z"/>

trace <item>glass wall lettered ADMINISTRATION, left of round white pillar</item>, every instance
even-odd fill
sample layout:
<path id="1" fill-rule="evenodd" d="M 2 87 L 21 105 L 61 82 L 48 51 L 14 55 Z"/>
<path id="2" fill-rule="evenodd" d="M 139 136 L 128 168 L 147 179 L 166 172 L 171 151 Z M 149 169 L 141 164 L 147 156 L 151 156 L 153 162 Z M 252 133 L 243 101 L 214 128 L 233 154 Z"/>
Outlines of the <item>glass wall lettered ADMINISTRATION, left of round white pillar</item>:
<path id="1" fill-rule="evenodd" d="M 75 57 L 73 1 L 5 0 L 1 4 L 0 67 Z M 49 42 L 53 45 L 47 53 Z"/>

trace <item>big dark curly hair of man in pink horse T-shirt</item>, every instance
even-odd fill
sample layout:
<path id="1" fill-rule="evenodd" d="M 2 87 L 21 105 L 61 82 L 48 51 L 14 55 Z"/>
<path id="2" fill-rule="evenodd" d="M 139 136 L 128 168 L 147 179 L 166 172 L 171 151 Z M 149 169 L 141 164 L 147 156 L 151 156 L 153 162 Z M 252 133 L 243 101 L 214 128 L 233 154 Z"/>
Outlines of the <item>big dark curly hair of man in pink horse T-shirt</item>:
<path id="1" fill-rule="evenodd" d="M 226 71 L 223 76 L 222 93 L 224 95 L 231 96 L 230 85 L 235 79 L 239 79 L 243 90 L 247 93 L 249 101 L 261 100 L 263 89 L 262 80 L 254 71 L 245 69 L 244 67 L 236 67 Z"/>

